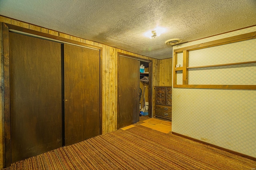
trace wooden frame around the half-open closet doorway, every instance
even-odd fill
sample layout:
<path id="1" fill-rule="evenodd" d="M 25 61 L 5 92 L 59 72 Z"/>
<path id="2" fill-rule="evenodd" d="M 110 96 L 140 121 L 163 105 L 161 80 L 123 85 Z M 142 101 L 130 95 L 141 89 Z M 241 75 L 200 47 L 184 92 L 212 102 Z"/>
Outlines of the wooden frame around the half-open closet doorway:
<path id="1" fill-rule="evenodd" d="M 153 70 L 152 70 L 152 60 L 148 60 L 148 59 L 142 59 L 140 57 L 136 57 L 133 55 L 128 55 L 128 54 L 124 54 L 124 53 L 120 53 L 117 52 L 117 66 L 119 68 L 119 57 L 123 56 L 123 57 L 128 57 L 134 60 L 138 60 L 138 61 L 143 61 L 143 62 L 147 62 L 148 63 L 148 78 L 149 78 L 149 82 L 148 82 L 148 104 L 150 105 L 150 107 L 148 107 L 148 117 L 152 118 L 152 113 L 153 113 L 153 107 L 152 107 L 152 75 L 153 75 Z M 119 71 L 117 71 L 117 84 L 119 85 Z M 118 90 L 117 90 L 118 91 Z M 119 96 L 119 94 L 117 94 L 117 96 Z M 117 102 L 117 114 L 119 112 L 119 105 Z"/>

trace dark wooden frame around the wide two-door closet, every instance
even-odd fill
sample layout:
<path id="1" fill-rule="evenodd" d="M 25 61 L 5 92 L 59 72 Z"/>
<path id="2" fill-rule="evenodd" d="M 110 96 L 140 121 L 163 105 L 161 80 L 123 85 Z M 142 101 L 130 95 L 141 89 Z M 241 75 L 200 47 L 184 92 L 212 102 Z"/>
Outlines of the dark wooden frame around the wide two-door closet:
<path id="1" fill-rule="evenodd" d="M 4 167 L 8 167 L 11 165 L 11 128 L 10 128 L 10 51 L 9 51 L 9 31 L 14 31 L 17 33 L 24 33 L 25 35 L 34 36 L 37 38 L 42 38 L 50 41 L 56 41 L 60 43 L 68 43 L 72 45 L 78 45 L 90 49 L 96 49 L 100 51 L 100 135 L 102 134 L 102 47 L 97 47 L 94 45 L 89 45 L 86 43 L 81 43 L 78 41 L 65 39 L 62 37 L 58 37 L 55 35 L 50 35 L 47 33 L 42 33 L 38 31 L 34 31 L 32 29 L 26 29 L 23 27 L 18 27 L 16 25 L 11 25 L 8 23 L 0 22 L 0 33 L 2 33 L 2 47 L 3 47 L 3 65 L 1 65 L 1 69 L 3 67 L 4 70 L 4 86 L 2 86 L 4 91 L 4 158 L 3 164 Z M 2 56 L 1 56 L 2 57 Z M 62 99 L 64 100 L 64 99 Z"/>

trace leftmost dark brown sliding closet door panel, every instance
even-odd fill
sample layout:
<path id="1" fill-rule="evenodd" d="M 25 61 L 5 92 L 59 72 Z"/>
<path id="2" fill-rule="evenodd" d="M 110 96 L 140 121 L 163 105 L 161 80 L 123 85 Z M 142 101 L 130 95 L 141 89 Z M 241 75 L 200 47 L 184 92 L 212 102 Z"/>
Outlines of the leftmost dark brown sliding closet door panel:
<path id="1" fill-rule="evenodd" d="M 10 33 L 12 162 L 62 146 L 60 46 Z"/>

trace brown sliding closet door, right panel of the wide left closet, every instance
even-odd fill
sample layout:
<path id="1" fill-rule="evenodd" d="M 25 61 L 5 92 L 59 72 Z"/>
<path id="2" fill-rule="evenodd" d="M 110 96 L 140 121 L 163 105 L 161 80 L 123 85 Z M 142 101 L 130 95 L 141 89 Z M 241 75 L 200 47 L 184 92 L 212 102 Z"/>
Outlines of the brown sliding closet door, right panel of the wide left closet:
<path id="1" fill-rule="evenodd" d="M 65 145 L 100 135 L 100 52 L 64 45 Z"/>

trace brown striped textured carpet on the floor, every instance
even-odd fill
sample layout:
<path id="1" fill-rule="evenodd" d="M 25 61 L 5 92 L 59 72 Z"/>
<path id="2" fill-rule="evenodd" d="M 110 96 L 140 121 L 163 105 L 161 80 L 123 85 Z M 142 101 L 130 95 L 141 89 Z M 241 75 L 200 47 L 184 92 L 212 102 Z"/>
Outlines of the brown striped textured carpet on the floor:
<path id="1" fill-rule="evenodd" d="M 7 170 L 252 170 L 256 162 L 135 124 L 12 164 Z"/>

